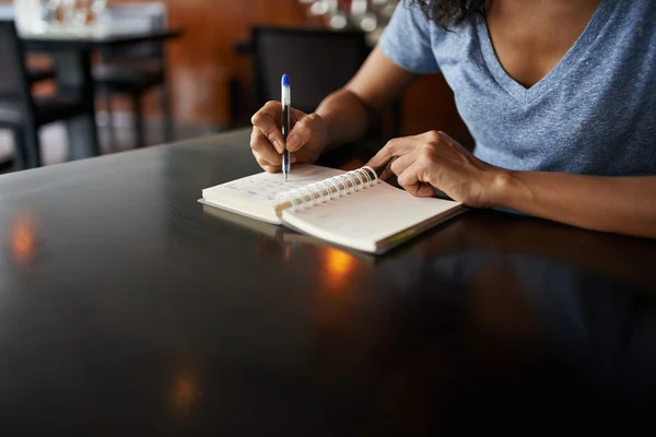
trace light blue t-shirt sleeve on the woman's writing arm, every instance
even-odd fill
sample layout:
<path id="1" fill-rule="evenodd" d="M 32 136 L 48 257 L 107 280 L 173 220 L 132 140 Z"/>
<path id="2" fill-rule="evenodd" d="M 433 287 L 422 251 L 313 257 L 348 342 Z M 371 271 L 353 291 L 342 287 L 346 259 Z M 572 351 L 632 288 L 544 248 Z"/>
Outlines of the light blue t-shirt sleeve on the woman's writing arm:
<path id="1" fill-rule="evenodd" d="M 432 23 L 417 5 L 400 1 L 383 31 L 378 47 L 394 63 L 414 73 L 438 73 L 431 38 Z"/>

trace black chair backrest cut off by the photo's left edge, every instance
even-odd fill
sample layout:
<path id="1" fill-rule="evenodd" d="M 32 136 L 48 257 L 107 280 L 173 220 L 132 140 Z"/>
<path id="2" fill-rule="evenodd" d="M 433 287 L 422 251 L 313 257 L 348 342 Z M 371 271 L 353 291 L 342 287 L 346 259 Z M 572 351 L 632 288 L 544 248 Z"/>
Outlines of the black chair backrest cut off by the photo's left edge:
<path id="1" fill-rule="evenodd" d="M 0 21 L 0 97 L 14 98 L 23 104 L 32 101 L 24 58 L 15 23 Z"/>

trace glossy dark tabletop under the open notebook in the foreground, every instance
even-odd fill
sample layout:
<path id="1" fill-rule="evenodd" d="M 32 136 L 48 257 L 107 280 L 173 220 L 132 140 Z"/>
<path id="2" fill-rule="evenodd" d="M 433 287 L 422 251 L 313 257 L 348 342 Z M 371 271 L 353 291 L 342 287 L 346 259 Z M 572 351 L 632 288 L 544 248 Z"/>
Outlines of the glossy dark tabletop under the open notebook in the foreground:
<path id="1" fill-rule="evenodd" d="M 248 133 L 0 176 L 1 435 L 653 430 L 655 241 L 469 211 L 339 250 L 198 203 Z"/>

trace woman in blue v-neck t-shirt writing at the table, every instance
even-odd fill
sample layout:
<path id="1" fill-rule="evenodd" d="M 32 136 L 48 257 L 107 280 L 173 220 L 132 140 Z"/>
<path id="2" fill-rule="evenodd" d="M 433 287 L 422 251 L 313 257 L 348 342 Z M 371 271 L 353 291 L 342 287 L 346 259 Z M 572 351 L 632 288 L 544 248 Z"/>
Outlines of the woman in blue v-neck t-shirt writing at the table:
<path id="1" fill-rule="evenodd" d="M 294 114 L 292 162 L 356 141 L 424 73 L 442 73 L 476 140 L 390 141 L 368 163 L 414 196 L 437 188 L 588 229 L 656 237 L 656 2 L 414 0 L 315 114 Z M 280 104 L 253 117 L 251 149 L 280 170 Z"/>

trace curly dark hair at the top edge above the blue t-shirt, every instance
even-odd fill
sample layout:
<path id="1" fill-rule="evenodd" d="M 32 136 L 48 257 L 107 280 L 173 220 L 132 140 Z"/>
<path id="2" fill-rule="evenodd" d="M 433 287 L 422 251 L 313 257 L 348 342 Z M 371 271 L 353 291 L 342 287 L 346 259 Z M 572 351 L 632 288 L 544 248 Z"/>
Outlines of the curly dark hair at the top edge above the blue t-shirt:
<path id="1" fill-rule="evenodd" d="M 484 16 L 485 0 L 405 0 L 418 5 L 429 20 L 449 29 Z"/>

